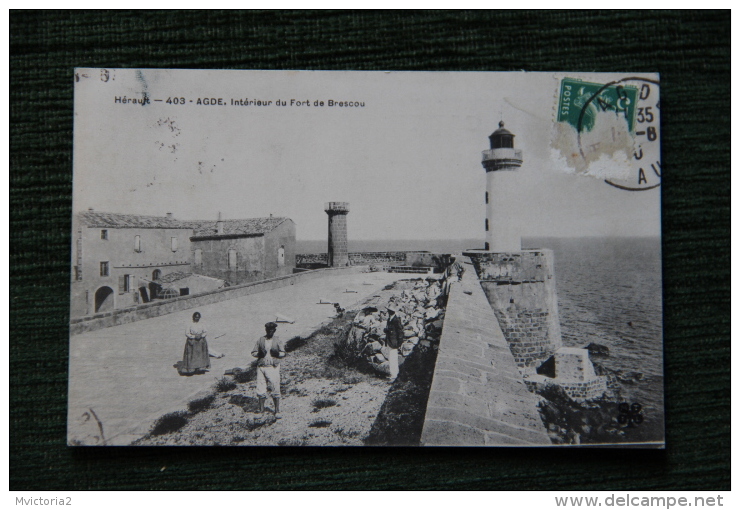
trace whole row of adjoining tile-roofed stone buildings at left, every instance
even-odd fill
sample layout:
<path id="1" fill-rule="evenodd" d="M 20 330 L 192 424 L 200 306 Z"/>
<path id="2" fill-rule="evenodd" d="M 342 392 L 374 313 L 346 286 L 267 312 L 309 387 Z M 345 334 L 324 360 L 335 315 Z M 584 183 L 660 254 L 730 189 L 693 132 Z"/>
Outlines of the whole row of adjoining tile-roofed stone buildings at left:
<path id="1" fill-rule="evenodd" d="M 287 275 L 295 267 L 289 218 L 179 221 L 86 211 L 72 220 L 71 316 L 198 294 Z"/>

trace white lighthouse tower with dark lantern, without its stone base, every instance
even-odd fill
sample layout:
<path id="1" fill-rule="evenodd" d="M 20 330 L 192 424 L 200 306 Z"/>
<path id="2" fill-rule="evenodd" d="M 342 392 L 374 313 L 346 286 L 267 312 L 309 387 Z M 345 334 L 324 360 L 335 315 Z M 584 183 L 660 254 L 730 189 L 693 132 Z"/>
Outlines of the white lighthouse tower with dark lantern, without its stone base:
<path id="1" fill-rule="evenodd" d="M 486 170 L 486 244 L 485 249 L 496 253 L 517 252 L 522 239 L 514 211 L 501 200 L 517 193 L 516 170 L 522 166 L 522 151 L 514 148 L 514 134 L 504 128 L 504 121 L 488 139 L 491 148 L 483 151 Z"/>

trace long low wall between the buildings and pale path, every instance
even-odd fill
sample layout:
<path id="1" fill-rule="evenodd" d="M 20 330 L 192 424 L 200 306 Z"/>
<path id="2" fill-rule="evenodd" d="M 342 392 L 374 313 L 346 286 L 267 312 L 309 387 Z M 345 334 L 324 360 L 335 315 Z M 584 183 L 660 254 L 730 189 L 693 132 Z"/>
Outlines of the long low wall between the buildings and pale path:
<path id="1" fill-rule="evenodd" d="M 180 310 L 187 310 L 197 306 L 209 305 L 220 301 L 226 301 L 228 299 L 248 296 L 250 294 L 264 292 L 266 290 L 279 289 L 299 282 L 330 276 L 338 272 L 347 273 L 358 271 L 360 271 L 360 268 L 353 267 L 304 271 L 260 282 L 245 283 L 242 285 L 218 289 L 211 292 L 180 296 L 162 301 L 152 301 L 138 306 L 121 308 L 119 310 L 113 310 L 106 313 L 98 313 L 90 317 L 73 318 L 70 320 L 69 332 L 71 335 L 76 335 L 87 331 L 95 331 L 97 329 L 118 326 L 120 324 L 136 322 L 143 319 L 149 319 L 151 317 L 158 317 L 160 315 L 166 315 Z"/>

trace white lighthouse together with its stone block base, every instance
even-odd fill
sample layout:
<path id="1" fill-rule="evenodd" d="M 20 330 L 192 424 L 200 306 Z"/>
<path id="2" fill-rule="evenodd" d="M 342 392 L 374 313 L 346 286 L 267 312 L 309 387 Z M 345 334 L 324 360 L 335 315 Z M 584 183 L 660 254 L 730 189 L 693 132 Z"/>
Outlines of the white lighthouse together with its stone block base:
<path id="1" fill-rule="evenodd" d="M 563 346 L 555 258 L 547 248 L 522 250 L 520 223 L 510 207 L 514 201 L 526 199 L 517 175 L 524 160 L 522 151 L 514 148 L 514 134 L 501 121 L 488 139 L 491 147 L 483 151 L 485 250 L 463 254 L 473 259 L 514 362 L 522 373 L 531 375 Z"/>

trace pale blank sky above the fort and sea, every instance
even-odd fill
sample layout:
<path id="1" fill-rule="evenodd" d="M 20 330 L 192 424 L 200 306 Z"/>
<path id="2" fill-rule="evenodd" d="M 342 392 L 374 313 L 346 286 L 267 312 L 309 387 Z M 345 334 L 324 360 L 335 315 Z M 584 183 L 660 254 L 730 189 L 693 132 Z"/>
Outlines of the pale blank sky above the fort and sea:
<path id="1" fill-rule="evenodd" d="M 517 193 L 496 199 L 523 237 L 660 235 L 659 187 L 630 192 L 604 183 L 604 172 L 631 178 L 625 153 L 602 157 L 592 176 L 553 148 L 559 81 L 551 73 L 77 69 L 76 76 L 75 211 L 171 212 L 183 220 L 273 214 L 292 218 L 297 238 L 309 240 L 326 237 L 324 203 L 341 201 L 350 204 L 350 239 L 483 239 L 481 151 L 503 118 L 524 164 Z M 143 94 L 149 104 L 122 102 Z M 197 104 L 203 98 L 225 104 Z M 232 99 L 272 104 L 232 106 Z M 330 99 L 364 106 L 329 107 Z"/>

